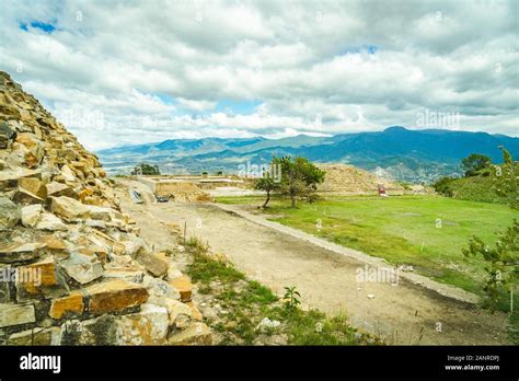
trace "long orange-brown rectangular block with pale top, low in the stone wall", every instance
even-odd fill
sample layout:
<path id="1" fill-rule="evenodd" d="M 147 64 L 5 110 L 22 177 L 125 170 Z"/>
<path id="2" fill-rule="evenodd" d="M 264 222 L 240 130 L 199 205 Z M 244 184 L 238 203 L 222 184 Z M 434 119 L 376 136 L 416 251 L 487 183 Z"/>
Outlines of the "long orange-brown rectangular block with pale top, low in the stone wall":
<path id="1" fill-rule="evenodd" d="M 119 312 L 145 303 L 148 290 L 122 279 L 108 280 L 88 287 L 89 311 L 95 314 Z"/>

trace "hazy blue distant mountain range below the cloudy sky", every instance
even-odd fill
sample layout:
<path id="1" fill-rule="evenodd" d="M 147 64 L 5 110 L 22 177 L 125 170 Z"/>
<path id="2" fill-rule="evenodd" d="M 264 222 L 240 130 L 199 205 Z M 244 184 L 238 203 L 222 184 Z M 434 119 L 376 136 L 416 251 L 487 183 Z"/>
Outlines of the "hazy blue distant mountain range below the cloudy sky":
<path id="1" fill-rule="evenodd" d="M 499 146 L 517 159 L 519 138 L 443 129 L 410 130 L 400 126 L 333 137 L 170 139 L 96 153 L 112 174 L 129 173 L 139 162 L 157 164 L 163 173 L 171 174 L 238 173 L 247 163 L 266 164 L 273 155 L 301 155 L 318 163 L 353 164 L 396 181 L 429 183 L 442 175 L 461 174 L 461 159 L 473 152 L 500 162 Z"/>

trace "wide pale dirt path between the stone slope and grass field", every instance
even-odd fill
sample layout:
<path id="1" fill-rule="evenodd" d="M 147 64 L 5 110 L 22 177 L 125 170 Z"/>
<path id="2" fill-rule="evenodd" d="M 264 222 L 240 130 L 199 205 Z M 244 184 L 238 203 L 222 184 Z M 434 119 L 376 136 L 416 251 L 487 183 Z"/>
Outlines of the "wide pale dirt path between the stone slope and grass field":
<path id="1" fill-rule="evenodd" d="M 141 188 L 137 182 L 119 181 L 119 184 Z M 214 252 L 224 253 L 251 278 L 278 293 L 282 293 L 285 286 L 296 286 L 305 304 L 327 313 L 345 312 L 353 325 L 380 334 L 391 344 L 508 343 L 506 314 L 491 315 L 471 303 L 413 284 L 413 280 L 423 280 L 419 276 L 406 274 L 407 279 L 400 279 L 396 286 L 358 282 L 358 268 L 367 263 L 380 264 L 379 259 L 362 253 L 338 253 L 328 242 L 295 236 L 286 227 L 265 221 L 261 216 L 253 216 L 258 220 L 240 217 L 233 207 L 226 207 L 231 209 L 226 211 L 210 204 L 136 205 L 127 189 L 119 188 L 118 194 L 124 211 L 137 221 L 143 238 L 157 249 L 172 245 L 171 234 L 162 222 L 184 226 L 187 221 L 188 236 L 194 234 L 207 240 Z M 441 288 L 441 291 L 460 299 L 471 297 L 452 288 Z"/>

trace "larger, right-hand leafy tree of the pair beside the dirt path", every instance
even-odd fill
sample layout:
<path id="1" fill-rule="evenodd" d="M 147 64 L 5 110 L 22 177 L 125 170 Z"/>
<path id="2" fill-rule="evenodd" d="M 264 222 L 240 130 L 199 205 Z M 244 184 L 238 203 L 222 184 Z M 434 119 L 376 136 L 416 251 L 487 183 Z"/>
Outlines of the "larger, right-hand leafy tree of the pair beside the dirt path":
<path id="1" fill-rule="evenodd" d="M 284 157 L 277 162 L 281 171 L 280 190 L 290 196 L 292 208 L 298 196 L 312 194 L 324 181 L 325 172 L 305 158 Z"/>

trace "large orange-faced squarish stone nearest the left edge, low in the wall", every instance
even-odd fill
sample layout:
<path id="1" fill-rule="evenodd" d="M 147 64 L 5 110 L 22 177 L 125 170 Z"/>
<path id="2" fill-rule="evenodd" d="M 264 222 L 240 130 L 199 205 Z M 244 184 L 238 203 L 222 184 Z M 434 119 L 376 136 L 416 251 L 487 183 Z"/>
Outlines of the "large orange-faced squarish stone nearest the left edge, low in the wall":
<path id="1" fill-rule="evenodd" d="M 16 282 L 16 299 L 34 297 L 59 298 L 69 293 L 69 288 L 56 264 L 54 256 L 37 263 L 20 266 Z"/>

